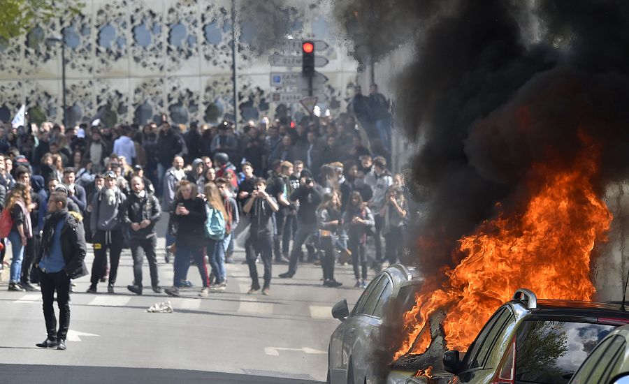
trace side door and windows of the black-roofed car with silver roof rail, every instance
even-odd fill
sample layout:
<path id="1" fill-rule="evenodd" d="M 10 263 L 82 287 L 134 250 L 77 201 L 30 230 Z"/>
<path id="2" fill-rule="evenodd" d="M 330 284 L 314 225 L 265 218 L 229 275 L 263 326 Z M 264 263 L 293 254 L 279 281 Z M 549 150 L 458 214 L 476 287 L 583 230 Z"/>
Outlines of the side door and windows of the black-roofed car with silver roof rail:
<path id="1" fill-rule="evenodd" d="M 489 383 L 491 381 L 500 358 L 494 360 L 489 357 L 496 348 L 504 347 L 498 345 L 503 342 L 501 336 L 514 321 L 515 317 L 509 307 L 502 307 L 493 314 L 468 349 L 468 353 L 465 353 L 461 372 L 457 375 L 461 383 Z"/>

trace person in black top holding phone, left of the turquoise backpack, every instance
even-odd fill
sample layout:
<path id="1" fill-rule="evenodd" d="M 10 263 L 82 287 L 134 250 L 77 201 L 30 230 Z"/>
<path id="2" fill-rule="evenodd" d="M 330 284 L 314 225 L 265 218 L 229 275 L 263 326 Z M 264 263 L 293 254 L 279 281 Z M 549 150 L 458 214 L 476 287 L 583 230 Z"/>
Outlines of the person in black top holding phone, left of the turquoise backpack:
<path id="1" fill-rule="evenodd" d="M 166 288 L 167 295 L 179 296 L 179 288 L 182 281 L 185 282 L 190 267 L 190 259 L 194 259 L 198 273 L 203 281 L 201 295 L 210 292 L 208 269 L 203 260 L 203 248 L 205 245 L 205 220 L 208 214 L 205 211 L 205 201 L 198 197 L 196 184 L 187 180 L 179 182 L 175 202 L 171 211 L 171 219 L 178 224 L 175 244 L 175 276 L 173 286 Z"/>

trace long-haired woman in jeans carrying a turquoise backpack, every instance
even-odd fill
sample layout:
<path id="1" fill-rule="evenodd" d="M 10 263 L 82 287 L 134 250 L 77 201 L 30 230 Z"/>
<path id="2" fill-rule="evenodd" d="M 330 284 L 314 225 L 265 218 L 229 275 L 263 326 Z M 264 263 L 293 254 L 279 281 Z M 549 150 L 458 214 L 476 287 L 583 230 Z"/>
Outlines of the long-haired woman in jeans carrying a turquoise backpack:
<path id="1" fill-rule="evenodd" d="M 225 272 L 225 247 L 224 239 L 226 234 L 226 218 L 227 212 L 220 192 L 214 183 L 205 184 L 205 210 L 208 213 L 208 219 L 205 221 L 205 249 L 208 252 L 208 259 L 212 267 L 212 274 L 215 276 L 215 283 L 210 290 L 225 290 L 226 288 L 226 272 Z M 206 297 L 208 291 L 201 291 L 200 296 Z"/>

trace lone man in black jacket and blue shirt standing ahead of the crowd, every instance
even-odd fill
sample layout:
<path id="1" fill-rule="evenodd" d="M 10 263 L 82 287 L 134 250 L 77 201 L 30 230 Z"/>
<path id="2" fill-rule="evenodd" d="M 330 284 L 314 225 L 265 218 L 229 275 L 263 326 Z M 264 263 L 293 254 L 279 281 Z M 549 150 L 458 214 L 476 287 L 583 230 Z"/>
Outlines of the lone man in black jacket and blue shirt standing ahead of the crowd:
<path id="1" fill-rule="evenodd" d="M 85 266 L 85 234 L 83 226 L 68 213 L 68 198 L 54 192 L 48 199 L 50 215 L 43 228 L 41 252 L 36 260 L 40 270 L 41 297 L 48 337 L 36 346 L 66 349 L 66 335 L 70 327 L 70 279 L 87 275 Z M 52 308 L 55 290 L 59 307 L 59 330 L 55 309 Z"/>

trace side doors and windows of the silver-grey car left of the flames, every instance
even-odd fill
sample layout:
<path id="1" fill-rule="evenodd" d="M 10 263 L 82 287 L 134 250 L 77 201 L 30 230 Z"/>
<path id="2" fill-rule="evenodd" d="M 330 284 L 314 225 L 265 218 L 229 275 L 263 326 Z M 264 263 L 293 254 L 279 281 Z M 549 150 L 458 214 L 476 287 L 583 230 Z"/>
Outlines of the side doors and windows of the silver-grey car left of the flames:
<path id="1" fill-rule="evenodd" d="M 352 347 L 356 342 L 356 332 L 359 332 L 360 327 L 363 326 L 361 320 L 363 316 L 363 309 L 366 307 L 368 300 L 375 297 L 379 297 L 381 287 L 379 283 L 382 279 L 382 274 L 376 276 L 367 288 L 363 291 L 363 294 L 356 302 L 352 313 L 349 314 L 347 320 L 343 322 L 343 337 L 342 337 L 342 352 L 340 353 L 340 366 L 335 369 L 333 374 L 335 380 L 333 383 L 346 383 L 347 380 L 347 368 L 349 366 L 349 360 L 352 356 Z"/>

